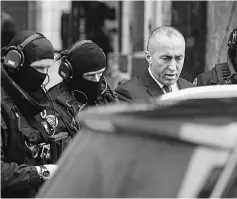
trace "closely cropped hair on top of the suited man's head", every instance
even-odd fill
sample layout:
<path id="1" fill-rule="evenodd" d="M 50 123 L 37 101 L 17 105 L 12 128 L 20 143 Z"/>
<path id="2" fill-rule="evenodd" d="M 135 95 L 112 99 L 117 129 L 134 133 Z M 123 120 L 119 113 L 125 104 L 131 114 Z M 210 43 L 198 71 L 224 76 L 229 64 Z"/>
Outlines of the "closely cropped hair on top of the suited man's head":
<path id="1" fill-rule="evenodd" d="M 151 32 L 150 37 L 148 39 L 148 43 L 147 43 L 147 51 L 149 51 L 150 53 L 154 53 L 157 44 L 159 44 L 160 42 L 160 38 L 162 38 L 163 36 L 167 36 L 170 38 L 171 37 L 180 38 L 185 44 L 184 36 L 176 28 L 173 28 L 170 26 L 161 26 L 154 29 Z"/>

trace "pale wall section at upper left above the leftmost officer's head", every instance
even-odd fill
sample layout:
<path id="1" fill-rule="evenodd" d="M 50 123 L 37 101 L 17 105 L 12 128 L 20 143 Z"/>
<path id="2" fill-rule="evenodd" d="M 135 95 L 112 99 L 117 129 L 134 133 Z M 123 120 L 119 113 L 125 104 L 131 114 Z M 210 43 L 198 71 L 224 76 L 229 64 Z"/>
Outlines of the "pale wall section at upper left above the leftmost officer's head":
<path id="1" fill-rule="evenodd" d="M 1 10 L 12 16 L 17 32 L 41 32 L 55 50 L 61 50 L 61 15 L 69 12 L 70 5 L 71 1 L 1 1 Z"/>

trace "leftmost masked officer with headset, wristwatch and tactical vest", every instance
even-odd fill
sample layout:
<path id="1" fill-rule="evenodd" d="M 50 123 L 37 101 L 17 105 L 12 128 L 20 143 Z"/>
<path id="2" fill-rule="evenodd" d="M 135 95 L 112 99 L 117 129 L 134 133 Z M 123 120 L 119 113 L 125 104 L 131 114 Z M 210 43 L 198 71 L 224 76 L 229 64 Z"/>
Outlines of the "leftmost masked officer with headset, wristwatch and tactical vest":
<path id="1" fill-rule="evenodd" d="M 53 60 L 50 41 L 32 31 L 17 34 L 3 52 L 2 197 L 34 197 L 67 144 L 70 120 L 58 113 L 45 89 Z"/>

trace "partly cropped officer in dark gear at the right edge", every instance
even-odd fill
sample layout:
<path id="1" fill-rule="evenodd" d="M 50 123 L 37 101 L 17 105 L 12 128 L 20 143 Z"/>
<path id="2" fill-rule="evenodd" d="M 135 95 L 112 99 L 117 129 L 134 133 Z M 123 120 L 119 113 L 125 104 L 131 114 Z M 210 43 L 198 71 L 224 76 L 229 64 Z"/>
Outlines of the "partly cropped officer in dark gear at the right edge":
<path id="1" fill-rule="evenodd" d="M 237 28 L 230 33 L 228 47 L 227 62 L 217 63 L 211 70 L 198 75 L 194 84 L 197 86 L 237 84 Z"/>

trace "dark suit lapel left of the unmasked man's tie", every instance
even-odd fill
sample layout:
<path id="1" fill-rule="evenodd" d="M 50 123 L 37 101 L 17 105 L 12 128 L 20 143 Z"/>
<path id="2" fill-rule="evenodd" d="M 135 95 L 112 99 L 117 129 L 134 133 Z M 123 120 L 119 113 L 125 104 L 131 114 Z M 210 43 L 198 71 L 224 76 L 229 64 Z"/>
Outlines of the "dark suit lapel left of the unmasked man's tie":
<path id="1" fill-rule="evenodd" d="M 142 82 L 143 82 L 143 85 L 146 87 L 147 93 L 151 97 L 156 98 L 164 94 L 160 86 L 155 82 L 155 80 L 149 74 L 148 69 L 145 70 L 144 75 L 142 76 Z"/>

